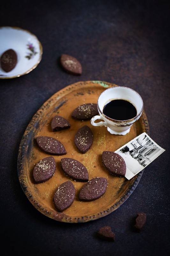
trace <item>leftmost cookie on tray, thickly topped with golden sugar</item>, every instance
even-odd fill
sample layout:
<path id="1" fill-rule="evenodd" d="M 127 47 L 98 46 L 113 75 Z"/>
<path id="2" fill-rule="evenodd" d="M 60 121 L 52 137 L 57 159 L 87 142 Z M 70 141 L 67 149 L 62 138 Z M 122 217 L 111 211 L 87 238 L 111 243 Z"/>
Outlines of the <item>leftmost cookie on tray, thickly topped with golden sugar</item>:
<path id="1" fill-rule="evenodd" d="M 35 184 L 49 180 L 55 173 L 56 164 L 53 156 L 48 156 L 39 161 L 33 169 L 33 179 Z"/>

